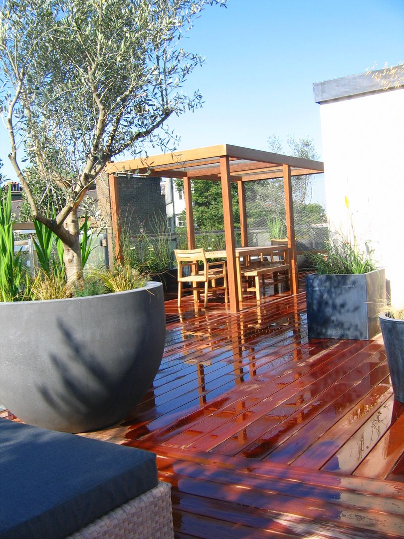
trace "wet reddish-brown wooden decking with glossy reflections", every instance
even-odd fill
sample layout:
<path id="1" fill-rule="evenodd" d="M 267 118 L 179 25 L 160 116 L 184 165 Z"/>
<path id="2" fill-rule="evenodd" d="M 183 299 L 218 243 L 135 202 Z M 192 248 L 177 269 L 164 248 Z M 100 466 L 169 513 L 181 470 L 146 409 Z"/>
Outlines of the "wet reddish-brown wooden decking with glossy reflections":
<path id="1" fill-rule="evenodd" d="M 304 292 L 166 301 L 161 368 L 86 436 L 150 449 L 178 538 L 404 537 L 404 405 L 381 338 L 308 340 Z"/>

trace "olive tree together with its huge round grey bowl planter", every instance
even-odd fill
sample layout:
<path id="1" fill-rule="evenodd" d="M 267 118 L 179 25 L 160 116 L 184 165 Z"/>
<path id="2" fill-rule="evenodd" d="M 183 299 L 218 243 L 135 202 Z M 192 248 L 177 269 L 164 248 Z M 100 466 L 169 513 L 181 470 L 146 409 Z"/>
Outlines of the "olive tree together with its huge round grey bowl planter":
<path id="1" fill-rule="evenodd" d="M 168 130 L 159 128 L 171 114 L 199 105 L 198 93 L 189 97 L 180 88 L 203 60 L 178 40 L 208 4 L 123 0 L 116 9 L 113 0 L 5 0 L 0 6 L 0 112 L 9 158 L 32 218 L 61 240 L 70 291 L 83 283 L 79 208 L 90 186 L 123 151 L 139 154 L 146 140 L 166 148 Z M 34 188 L 37 181 L 45 190 Z M 52 217 L 55 192 L 62 203 L 54 204 Z M 5 278 L 16 285 L 12 273 Z M 73 432 L 122 419 L 161 361 L 161 288 L 18 301 L 15 286 L 11 301 L 0 305 L 0 402 L 23 420 Z"/>

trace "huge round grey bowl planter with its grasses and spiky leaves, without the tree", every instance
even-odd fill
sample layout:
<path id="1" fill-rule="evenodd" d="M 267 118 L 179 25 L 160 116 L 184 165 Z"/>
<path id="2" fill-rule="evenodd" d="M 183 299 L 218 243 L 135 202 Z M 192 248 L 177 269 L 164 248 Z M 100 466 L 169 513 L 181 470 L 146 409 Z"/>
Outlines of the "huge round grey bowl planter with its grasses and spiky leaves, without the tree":
<path id="1" fill-rule="evenodd" d="M 41 269 L 30 279 L 14 253 L 10 194 L 0 197 L 0 402 L 26 423 L 56 430 L 113 424 L 140 401 L 161 363 L 161 285 L 124 266 L 93 270 L 69 289 L 52 253 L 54 234 L 40 223 L 34 242 Z"/>

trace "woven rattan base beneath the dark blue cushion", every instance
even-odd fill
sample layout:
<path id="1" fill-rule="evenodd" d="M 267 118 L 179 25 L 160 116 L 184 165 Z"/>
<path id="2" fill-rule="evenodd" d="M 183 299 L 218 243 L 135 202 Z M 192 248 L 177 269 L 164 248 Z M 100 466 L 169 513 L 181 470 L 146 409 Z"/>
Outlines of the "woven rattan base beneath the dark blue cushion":
<path id="1" fill-rule="evenodd" d="M 157 487 L 129 500 L 67 539 L 171 539 L 171 485 Z"/>

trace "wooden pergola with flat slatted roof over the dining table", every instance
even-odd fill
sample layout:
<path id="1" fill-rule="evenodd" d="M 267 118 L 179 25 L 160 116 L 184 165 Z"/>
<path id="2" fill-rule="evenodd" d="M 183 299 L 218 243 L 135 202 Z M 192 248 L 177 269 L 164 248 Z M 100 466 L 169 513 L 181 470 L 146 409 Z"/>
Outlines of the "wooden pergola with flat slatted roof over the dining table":
<path id="1" fill-rule="evenodd" d="M 117 248 L 119 248 L 120 245 L 117 175 L 120 173 L 182 178 L 184 180 L 186 228 L 188 246 L 190 249 L 195 247 L 191 181 L 207 179 L 221 182 L 228 268 L 228 288 L 230 310 L 232 313 L 238 312 L 240 307 L 237 293 L 231 182 L 237 182 L 238 185 L 241 245 L 245 247 L 248 245 L 245 182 L 270 178 L 283 178 L 287 238 L 288 247 L 290 249 L 292 293 L 297 293 L 298 274 L 296 265 L 297 257 L 291 178 L 292 176 L 319 174 L 324 172 L 324 164 L 321 161 L 273 154 L 268 151 L 242 148 L 239 146 L 232 146 L 231 144 L 219 144 L 218 146 L 176 151 L 170 154 L 148 156 L 147 158 L 130 159 L 116 163 L 112 162 L 107 165 L 106 172 L 109 175 L 112 226 L 117 239 Z M 119 252 L 116 254 L 120 257 Z"/>

